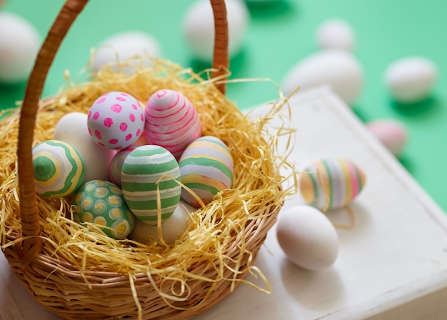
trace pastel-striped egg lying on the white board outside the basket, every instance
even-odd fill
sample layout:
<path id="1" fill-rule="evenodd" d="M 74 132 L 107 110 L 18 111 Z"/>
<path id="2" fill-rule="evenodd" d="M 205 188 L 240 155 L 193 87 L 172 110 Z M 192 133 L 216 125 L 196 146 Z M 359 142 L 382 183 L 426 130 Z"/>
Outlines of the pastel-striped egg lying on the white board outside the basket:
<path id="1" fill-rule="evenodd" d="M 365 173 L 351 161 L 321 159 L 303 168 L 301 194 L 307 204 L 326 211 L 349 204 L 365 186 Z"/>

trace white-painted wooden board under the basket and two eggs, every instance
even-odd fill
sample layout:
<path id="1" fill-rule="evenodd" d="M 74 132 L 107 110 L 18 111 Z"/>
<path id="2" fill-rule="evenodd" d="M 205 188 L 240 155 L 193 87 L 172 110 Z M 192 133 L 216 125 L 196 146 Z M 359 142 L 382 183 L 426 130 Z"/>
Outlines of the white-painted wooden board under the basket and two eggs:
<path id="1" fill-rule="evenodd" d="M 338 229 L 336 264 L 318 272 L 288 262 L 273 228 L 256 260 L 273 293 L 241 284 L 196 320 L 447 319 L 446 214 L 329 89 L 297 94 L 291 109 L 297 132 L 290 160 L 298 168 L 338 156 L 366 172 L 365 189 L 351 204 L 355 227 Z M 286 206 L 301 203 L 296 196 Z M 349 221 L 345 209 L 328 216 Z M 25 320 L 56 319 L 11 277 L 3 256 L 0 268 L 0 293 L 12 296 Z M 1 314 L 5 307 L 14 309 L 0 306 Z"/>

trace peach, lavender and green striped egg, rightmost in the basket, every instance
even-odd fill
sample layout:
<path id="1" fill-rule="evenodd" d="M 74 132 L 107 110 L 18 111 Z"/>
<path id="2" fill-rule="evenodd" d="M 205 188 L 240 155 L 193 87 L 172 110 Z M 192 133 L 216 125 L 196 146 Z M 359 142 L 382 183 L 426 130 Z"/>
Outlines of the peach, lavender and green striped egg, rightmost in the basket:
<path id="1" fill-rule="evenodd" d="M 233 158 L 228 146 L 215 136 L 202 136 L 191 143 L 179 161 L 181 182 L 209 204 L 214 196 L 233 184 Z M 199 207 L 193 194 L 181 191 L 184 201 Z"/>

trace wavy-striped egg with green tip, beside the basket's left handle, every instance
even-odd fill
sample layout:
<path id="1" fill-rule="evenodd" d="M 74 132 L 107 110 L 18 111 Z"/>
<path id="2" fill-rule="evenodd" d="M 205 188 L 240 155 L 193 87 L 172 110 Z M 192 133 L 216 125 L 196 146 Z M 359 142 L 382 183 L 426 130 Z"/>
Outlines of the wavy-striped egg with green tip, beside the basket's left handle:
<path id="1" fill-rule="evenodd" d="M 64 141 L 49 140 L 36 144 L 32 153 L 36 194 L 59 198 L 79 188 L 84 179 L 85 165 L 74 146 Z"/>

